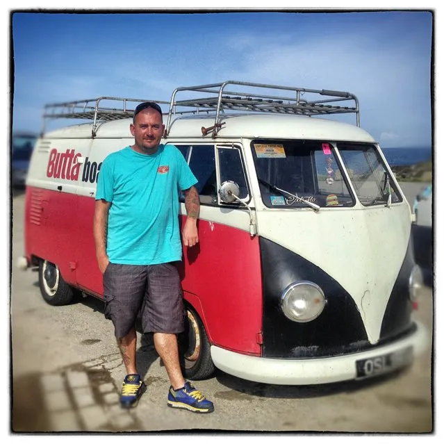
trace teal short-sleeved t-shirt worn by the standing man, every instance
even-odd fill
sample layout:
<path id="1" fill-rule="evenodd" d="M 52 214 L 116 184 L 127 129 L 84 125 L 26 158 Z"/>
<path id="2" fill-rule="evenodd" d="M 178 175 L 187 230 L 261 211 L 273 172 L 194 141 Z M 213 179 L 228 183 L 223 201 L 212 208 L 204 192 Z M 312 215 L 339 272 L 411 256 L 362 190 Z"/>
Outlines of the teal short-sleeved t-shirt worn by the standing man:
<path id="1" fill-rule="evenodd" d="M 106 254 L 112 263 L 154 265 L 180 261 L 179 192 L 197 183 L 179 149 L 156 154 L 131 147 L 106 156 L 96 200 L 111 202 Z"/>

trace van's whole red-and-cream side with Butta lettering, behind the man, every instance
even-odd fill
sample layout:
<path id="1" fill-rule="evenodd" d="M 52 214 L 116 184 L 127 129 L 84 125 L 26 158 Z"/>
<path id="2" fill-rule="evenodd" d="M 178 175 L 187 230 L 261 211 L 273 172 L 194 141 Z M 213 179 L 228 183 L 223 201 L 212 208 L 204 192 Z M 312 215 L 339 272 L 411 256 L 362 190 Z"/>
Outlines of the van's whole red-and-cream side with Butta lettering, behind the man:
<path id="1" fill-rule="evenodd" d="M 31 165 L 27 256 L 53 261 L 67 283 L 98 297 L 103 295 L 103 283 L 92 233 L 97 177 L 105 156 L 131 142 L 99 137 L 40 140 Z M 209 222 L 210 213 L 221 210 L 215 206 L 208 211 L 208 218 L 199 220 L 199 245 L 183 249 L 185 297 L 199 312 L 212 343 L 260 356 L 263 300 L 258 238 L 246 229 Z M 241 214 L 242 219 L 245 214 Z"/>

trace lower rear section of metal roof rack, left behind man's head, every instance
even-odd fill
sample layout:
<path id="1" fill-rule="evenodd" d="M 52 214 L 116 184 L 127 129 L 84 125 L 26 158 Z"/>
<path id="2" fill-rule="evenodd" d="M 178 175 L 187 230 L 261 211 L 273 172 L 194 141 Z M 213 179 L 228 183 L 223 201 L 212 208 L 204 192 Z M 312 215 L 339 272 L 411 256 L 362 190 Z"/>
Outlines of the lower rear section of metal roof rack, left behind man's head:
<path id="1" fill-rule="evenodd" d="M 97 132 L 97 127 L 102 122 L 126 119 L 133 117 L 137 104 L 144 101 L 154 101 L 156 104 L 170 104 L 169 101 L 126 99 L 123 97 L 98 97 L 97 99 L 85 99 L 67 101 L 44 106 L 42 134 L 46 129 L 48 120 L 52 119 L 85 119 L 92 120 L 92 137 Z"/>

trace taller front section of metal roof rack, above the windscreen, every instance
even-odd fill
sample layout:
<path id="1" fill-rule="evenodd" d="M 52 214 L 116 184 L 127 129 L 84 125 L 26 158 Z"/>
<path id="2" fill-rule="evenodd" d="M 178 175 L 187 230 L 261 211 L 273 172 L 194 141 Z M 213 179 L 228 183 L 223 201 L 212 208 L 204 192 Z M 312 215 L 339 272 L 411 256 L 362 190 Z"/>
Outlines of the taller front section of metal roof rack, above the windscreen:
<path id="1" fill-rule="evenodd" d="M 242 85 L 250 87 L 247 92 L 233 92 L 224 90 L 227 85 Z M 290 97 L 282 95 L 269 95 L 256 92 L 253 88 L 266 88 L 268 90 L 288 91 Z M 183 99 L 176 101 L 178 92 L 199 92 L 206 93 L 204 98 Z M 208 94 L 210 94 L 208 96 Z M 276 94 L 273 92 L 273 94 Z M 283 94 L 283 92 L 279 92 Z M 311 96 L 310 100 L 303 99 L 305 94 Z M 330 96 L 329 99 L 322 99 L 319 96 Z M 341 106 L 339 102 L 353 101 L 353 106 Z M 194 108 L 194 110 L 180 110 L 180 108 Z M 357 97 L 350 92 L 334 90 L 310 90 L 307 88 L 295 88 L 281 85 L 267 85 L 265 83 L 250 83 L 239 81 L 224 81 L 223 83 L 211 83 L 208 85 L 185 86 L 176 88 L 172 93 L 170 110 L 168 112 L 167 124 L 165 127 L 165 137 L 170 133 L 173 115 L 183 115 L 187 113 L 199 114 L 202 112 L 215 113 L 215 122 L 211 126 L 212 137 L 215 138 L 221 128 L 220 115 L 227 115 L 225 111 L 238 111 L 242 113 L 276 113 L 293 115 L 329 115 L 355 113 L 356 126 L 360 126 L 359 102 Z"/>

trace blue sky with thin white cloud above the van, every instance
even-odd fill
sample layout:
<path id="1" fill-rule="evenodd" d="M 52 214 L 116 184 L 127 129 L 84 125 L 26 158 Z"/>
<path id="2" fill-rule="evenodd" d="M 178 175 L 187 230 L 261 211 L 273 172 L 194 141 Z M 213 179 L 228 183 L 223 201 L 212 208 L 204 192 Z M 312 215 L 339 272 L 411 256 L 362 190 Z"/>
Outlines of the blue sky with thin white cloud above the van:
<path id="1" fill-rule="evenodd" d="M 235 80 L 352 92 L 382 147 L 431 145 L 431 13 L 172 12 L 15 13 L 13 129 L 51 102 Z"/>

